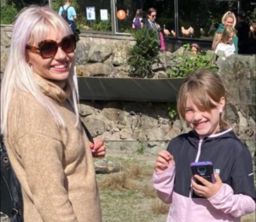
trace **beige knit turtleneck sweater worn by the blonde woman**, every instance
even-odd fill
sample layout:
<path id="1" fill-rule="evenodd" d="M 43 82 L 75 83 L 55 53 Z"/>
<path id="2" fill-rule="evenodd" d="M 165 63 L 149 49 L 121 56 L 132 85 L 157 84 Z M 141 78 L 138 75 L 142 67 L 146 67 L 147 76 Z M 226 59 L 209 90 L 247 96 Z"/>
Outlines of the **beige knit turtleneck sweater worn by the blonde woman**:
<path id="1" fill-rule="evenodd" d="M 16 93 L 9 106 L 5 142 L 24 198 L 25 222 L 101 222 L 96 174 L 83 128 L 68 105 L 70 88 L 38 77 L 67 129 L 59 129 L 36 98 Z"/>

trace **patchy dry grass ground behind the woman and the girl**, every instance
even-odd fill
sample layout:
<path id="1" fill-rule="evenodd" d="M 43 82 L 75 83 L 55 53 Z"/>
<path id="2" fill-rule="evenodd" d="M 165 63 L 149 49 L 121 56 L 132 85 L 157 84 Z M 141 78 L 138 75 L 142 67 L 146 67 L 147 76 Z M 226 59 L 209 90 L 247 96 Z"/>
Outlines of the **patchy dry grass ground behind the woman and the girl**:
<path id="1" fill-rule="evenodd" d="M 141 151 L 116 151 L 107 146 L 106 160 L 125 168 L 129 168 L 127 164 L 138 166 L 143 173 L 137 173 L 137 177 L 129 174 L 133 186 L 121 190 L 101 186 L 114 174 L 97 174 L 103 222 L 166 222 L 169 206 L 160 202 L 151 185 L 155 157 L 147 151 L 144 154 Z M 255 222 L 255 213 L 242 217 L 241 222 Z"/>

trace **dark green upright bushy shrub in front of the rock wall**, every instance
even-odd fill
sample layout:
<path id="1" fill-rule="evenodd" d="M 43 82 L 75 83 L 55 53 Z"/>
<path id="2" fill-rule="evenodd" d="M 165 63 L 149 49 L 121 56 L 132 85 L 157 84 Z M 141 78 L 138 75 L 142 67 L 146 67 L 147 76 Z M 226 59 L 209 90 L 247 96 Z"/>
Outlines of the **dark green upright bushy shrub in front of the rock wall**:
<path id="1" fill-rule="evenodd" d="M 151 77 L 152 65 L 159 61 L 159 39 L 158 34 L 151 29 L 142 28 L 132 31 L 133 37 L 136 39 L 136 45 L 130 49 L 130 65 L 131 77 Z"/>

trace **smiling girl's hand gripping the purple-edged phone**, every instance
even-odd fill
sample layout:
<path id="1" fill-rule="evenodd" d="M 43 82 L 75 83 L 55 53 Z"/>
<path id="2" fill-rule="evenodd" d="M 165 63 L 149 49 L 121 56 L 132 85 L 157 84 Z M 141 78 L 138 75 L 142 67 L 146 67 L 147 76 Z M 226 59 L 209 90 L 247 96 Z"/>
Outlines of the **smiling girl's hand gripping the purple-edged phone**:
<path id="1" fill-rule="evenodd" d="M 203 185 L 198 185 L 195 180 L 191 179 L 192 188 L 195 191 L 195 194 L 198 196 L 204 196 L 210 198 L 218 193 L 221 188 L 222 180 L 218 174 L 214 174 L 215 184 L 212 184 L 207 179 L 202 178 L 199 175 L 195 175 L 195 179 L 198 179 Z"/>

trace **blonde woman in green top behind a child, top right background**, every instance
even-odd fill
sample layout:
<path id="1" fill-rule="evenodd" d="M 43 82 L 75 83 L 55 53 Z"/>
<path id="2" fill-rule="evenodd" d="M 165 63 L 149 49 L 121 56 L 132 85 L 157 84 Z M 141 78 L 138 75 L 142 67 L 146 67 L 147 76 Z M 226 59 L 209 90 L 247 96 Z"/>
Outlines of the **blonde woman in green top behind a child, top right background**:
<path id="1" fill-rule="evenodd" d="M 221 20 L 222 23 L 220 23 L 218 25 L 218 29 L 217 31 L 215 31 L 215 35 L 213 37 L 213 41 L 212 41 L 212 50 L 216 49 L 216 46 L 221 38 L 221 35 L 224 31 L 224 28 L 226 26 L 232 26 L 233 28 L 235 28 L 236 26 L 236 15 L 230 11 L 226 12 Z M 235 54 L 238 54 L 238 37 L 236 35 L 234 35 L 233 39 L 232 39 L 232 43 L 234 43 L 234 46 L 236 48 L 235 50 Z"/>

